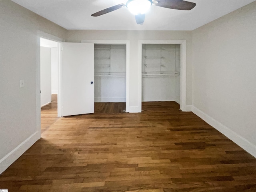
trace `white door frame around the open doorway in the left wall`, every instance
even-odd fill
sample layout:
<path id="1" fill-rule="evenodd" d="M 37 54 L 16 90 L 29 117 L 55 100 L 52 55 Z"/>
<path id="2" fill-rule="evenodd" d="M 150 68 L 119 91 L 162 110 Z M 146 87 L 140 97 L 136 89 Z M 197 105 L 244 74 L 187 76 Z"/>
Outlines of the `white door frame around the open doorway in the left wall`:
<path id="1" fill-rule="evenodd" d="M 61 57 L 60 57 L 60 48 L 61 42 L 64 40 L 62 38 L 58 38 L 54 35 L 48 34 L 46 32 L 37 30 L 37 39 L 36 39 L 36 130 L 41 133 L 41 94 L 40 94 L 40 38 L 45 38 L 48 40 L 52 40 L 58 43 L 58 117 L 61 116 Z"/>

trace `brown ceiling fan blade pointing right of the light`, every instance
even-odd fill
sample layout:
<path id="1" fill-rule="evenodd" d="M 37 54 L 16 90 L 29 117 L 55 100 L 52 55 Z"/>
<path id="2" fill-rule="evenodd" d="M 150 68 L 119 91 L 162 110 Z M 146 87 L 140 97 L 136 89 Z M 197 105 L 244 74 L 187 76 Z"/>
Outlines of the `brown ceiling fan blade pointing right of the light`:
<path id="1" fill-rule="evenodd" d="M 183 0 L 158 0 L 155 5 L 169 9 L 191 10 L 196 6 L 196 3 Z"/>

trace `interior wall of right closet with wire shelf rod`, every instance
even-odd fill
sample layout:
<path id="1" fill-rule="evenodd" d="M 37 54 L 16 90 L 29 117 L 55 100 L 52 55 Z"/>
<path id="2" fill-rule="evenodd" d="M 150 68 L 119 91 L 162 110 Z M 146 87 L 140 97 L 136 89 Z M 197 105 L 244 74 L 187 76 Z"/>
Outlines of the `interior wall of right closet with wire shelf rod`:
<path id="1" fill-rule="evenodd" d="M 180 44 L 142 45 L 142 102 L 180 104 Z"/>

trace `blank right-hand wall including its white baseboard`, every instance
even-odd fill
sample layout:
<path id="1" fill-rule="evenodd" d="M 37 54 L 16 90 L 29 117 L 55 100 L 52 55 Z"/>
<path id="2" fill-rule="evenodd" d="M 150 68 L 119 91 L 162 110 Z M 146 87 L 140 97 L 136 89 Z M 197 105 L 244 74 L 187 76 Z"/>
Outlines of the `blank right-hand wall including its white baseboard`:
<path id="1" fill-rule="evenodd" d="M 256 2 L 193 31 L 193 112 L 256 156 Z"/>

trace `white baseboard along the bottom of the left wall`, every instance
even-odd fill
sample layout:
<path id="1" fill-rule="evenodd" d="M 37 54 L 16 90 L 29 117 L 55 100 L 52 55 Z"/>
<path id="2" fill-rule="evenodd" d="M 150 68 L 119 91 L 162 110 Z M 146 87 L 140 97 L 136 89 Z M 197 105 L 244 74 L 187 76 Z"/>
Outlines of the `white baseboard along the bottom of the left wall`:
<path id="1" fill-rule="evenodd" d="M 0 174 L 4 172 L 11 164 L 14 163 L 26 150 L 28 150 L 37 140 L 41 138 L 40 132 L 35 132 L 24 142 L 19 144 L 14 150 L 0 159 Z"/>

